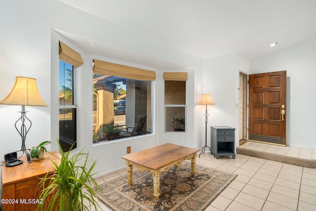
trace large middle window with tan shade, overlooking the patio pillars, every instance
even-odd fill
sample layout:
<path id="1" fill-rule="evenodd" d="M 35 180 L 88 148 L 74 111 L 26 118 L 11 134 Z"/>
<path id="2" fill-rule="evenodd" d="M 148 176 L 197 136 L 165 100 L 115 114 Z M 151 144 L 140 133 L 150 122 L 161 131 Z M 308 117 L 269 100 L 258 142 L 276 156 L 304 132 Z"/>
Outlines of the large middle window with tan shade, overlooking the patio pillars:
<path id="1" fill-rule="evenodd" d="M 136 71 L 142 77 L 135 75 L 135 68 L 94 62 L 93 143 L 152 133 L 153 80 L 143 78 L 140 69 Z M 113 68 L 115 75 L 102 74 Z"/>

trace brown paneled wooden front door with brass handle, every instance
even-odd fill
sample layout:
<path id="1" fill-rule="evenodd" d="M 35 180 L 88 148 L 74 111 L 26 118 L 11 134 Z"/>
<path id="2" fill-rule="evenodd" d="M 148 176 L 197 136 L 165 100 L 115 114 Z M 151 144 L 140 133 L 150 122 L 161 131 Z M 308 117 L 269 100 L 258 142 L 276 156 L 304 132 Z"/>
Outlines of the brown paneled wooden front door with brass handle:
<path id="1" fill-rule="evenodd" d="M 286 71 L 249 75 L 249 140 L 285 145 Z"/>

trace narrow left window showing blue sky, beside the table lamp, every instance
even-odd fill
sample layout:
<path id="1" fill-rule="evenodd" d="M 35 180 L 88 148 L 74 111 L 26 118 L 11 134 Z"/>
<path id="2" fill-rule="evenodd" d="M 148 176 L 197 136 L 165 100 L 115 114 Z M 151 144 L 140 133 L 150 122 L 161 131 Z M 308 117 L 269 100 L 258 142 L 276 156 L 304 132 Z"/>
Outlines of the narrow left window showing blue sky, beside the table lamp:
<path id="1" fill-rule="evenodd" d="M 64 152 L 77 147 L 74 66 L 59 60 L 59 141 Z"/>

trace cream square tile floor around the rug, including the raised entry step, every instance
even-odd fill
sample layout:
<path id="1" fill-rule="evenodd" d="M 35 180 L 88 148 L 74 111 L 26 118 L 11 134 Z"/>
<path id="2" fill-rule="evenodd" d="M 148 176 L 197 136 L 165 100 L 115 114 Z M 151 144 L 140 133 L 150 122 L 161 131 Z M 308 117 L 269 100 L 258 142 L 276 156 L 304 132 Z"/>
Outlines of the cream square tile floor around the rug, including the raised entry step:
<path id="1" fill-rule="evenodd" d="M 247 142 L 243 147 L 315 158 L 315 150 Z M 236 159 L 202 154 L 197 164 L 237 174 L 205 211 L 316 211 L 316 169 L 237 154 Z M 122 169 L 97 178 L 102 184 L 126 174 Z M 104 211 L 109 209 L 101 205 Z"/>

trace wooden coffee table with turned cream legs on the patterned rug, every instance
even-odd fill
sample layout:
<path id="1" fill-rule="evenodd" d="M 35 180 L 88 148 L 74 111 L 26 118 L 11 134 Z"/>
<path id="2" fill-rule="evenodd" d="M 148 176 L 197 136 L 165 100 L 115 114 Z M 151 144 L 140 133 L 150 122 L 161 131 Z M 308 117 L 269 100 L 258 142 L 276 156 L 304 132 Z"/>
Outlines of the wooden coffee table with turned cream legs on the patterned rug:
<path id="1" fill-rule="evenodd" d="M 160 174 L 168 171 L 172 166 L 180 167 L 184 160 L 191 159 L 192 174 L 196 173 L 196 158 L 199 149 L 178 146 L 175 144 L 163 144 L 157 147 L 122 156 L 126 160 L 127 184 L 131 185 L 133 166 L 140 172 L 149 170 L 154 177 L 154 197 L 159 198 Z"/>

